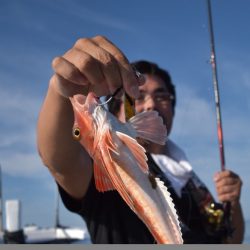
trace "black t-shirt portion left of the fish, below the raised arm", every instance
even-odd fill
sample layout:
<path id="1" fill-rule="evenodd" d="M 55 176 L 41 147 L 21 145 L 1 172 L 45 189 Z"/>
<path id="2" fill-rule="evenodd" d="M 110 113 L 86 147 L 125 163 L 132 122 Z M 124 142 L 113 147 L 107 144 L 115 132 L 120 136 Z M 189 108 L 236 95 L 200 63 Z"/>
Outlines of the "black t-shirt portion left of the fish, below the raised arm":
<path id="1" fill-rule="evenodd" d="M 70 197 L 60 186 L 64 205 L 86 222 L 92 243 L 152 244 L 154 238 L 144 223 L 127 206 L 117 191 L 98 192 L 94 178 L 81 201 Z"/>

